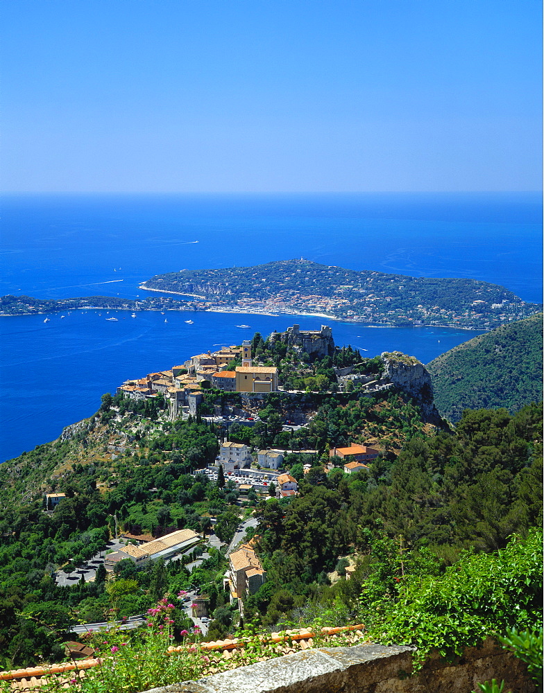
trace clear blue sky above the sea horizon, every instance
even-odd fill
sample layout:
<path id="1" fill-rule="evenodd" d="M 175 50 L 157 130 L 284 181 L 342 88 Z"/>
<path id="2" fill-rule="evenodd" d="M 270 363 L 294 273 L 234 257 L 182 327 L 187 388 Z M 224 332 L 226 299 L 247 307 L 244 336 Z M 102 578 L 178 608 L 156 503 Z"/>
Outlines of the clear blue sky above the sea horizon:
<path id="1" fill-rule="evenodd" d="M 541 188 L 537 0 L 2 0 L 3 191 Z"/>

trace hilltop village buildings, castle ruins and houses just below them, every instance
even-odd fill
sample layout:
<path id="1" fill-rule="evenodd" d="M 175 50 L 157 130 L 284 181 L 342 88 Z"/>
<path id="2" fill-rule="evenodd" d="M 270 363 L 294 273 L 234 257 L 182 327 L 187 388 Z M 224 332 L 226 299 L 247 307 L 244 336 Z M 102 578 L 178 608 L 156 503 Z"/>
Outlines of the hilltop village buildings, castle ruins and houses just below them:
<path id="1" fill-rule="evenodd" d="M 332 330 L 325 325 L 318 331 L 301 331 L 300 326 L 294 325 L 285 333 L 273 333 L 269 337 L 269 343 L 272 345 L 284 343 L 314 360 L 330 358 L 334 353 Z M 255 363 L 252 348 L 253 340 L 244 340 L 240 346 L 233 345 L 219 351 L 197 354 L 185 361 L 183 365 L 173 366 L 167 371 L 147 374 L 144 378 L 137 380 L 126 380 L 117 388 L 117 394 L 135 401 L 160 401 L 164 403 L 165 414 L 170 420 L 178 417 L 187 419 L 189 416 L 201 414 L 206 394 L 212 397 L 221 393 L 244 394 L 245 401 L 240 402 L 239 407 L 236 407 L 236 414 L 223 416 L 221 407 L 216 406 L 214 409 L 221 409 L 221 411 L 214 411 L 209 416 L 205 414 L 203 416 L 205 420 L 219 424 L 220 432 L 228 436 L 228 429 L 232 424 L 253 427 L 260 423 L 258 407 L 255 410 L 255 405 L 265 403 L 266 394 L 273 392 L 282 392 L 286 395 L 298 394 L 296 390 L 289 390 L 280 385 L 277 366 L 264 365 L 262 362 Z M 335 369 L 334 392 L 349 390 L 354 387 L 354 383 L 357 383 L 359 389 L 364 383 L 364 392 L 386 391 L 393 387 L 393 383 L 388 378 L 376 378 L 372 374 L 353 374 L 353 370 L 353 367 Z M 297 430 L 305 426 L 308 421 L 308 416 L 303 416 L 299 425 L 294 421 L 285 421 L 282 429 Z M 249 491 L 252 488 L 261 492 L 267 491 L 266 486 L 275 481 L 278 498 L 285 498 L 297 492 L 298 484 L 293 477 L 282 475 L 278 471 L 282 469 L 284 457 L 286 455 L 315 456 L 316 454 L 317 450 L 286 448 L 253 452 L 248 445 L 223 440 L 219 455 L 216 457 L 216 464 L 205 470 L 205 473 L 215 477 L 217 469 L 221 466 L 223 472 L 243 476 L 242 480 L 246 483 L 240 484 L 241 491 Z M 365 468 L 364 462 L 372 462 L 378 454 L 379 450 L 359 444 L 333 446 L 330 450 L 331 457 L 345 459 L 343 468 L 346 473 Z M 266 469 L 269 472 L 258 473 L 250 470 L 252 464 L 257 470 Z M 307 469 L 310 466 L 306 464 Z M 332 469 L 333 465 L 330 464 L 328 468 Z M 244 472 L 242 473 L 241 470 Z"/>

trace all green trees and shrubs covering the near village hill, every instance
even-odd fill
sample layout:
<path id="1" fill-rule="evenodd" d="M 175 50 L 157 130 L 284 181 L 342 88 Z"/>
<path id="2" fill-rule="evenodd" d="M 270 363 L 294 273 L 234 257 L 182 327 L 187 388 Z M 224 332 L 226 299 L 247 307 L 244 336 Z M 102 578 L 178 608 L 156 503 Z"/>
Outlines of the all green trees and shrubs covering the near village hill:
<path id="1" fill-rule="evenodd" d="M 513 415 L 466 410 L 452 431 L 431 426 L 400 390 L 368 394 L 355 385 L 334 392 L 334 368 L 379 377 L 380 358 L 364 359 L 346 347 L 311 360 L 258 334 L 253 353 L 278 365 L 283 381 L 301 391 L 259 401 L 254 426 L 227 431 L 200 414 L 169 421 L 162 397 L 137 402 L 105 394 L 92 419 L 0 466 L 1 667 L 61 658 L 72 624 L 142 613 L 165 594 L 176 605 L 171 615 L 180 638 L 190 624 L 176 595 L 189 588 L 210 597 L 210 639 L 242 629 L 223 589 L 224 550 L 210 550 L 192 572 L 187 563 L 194 556 L 141 571 L 121 561 L 115 579 L 101 568 L 94 582 L 74 580 L 69 587 L 58 586 L 55 574 L 74 573 L 107 550 L 116 524 L 133 534 L 189 527 L 205 536 L 214 518 L 214 532 L 228 543 L 252 512 L 267 581 L 245 599 L 246 623 L 280 629 L 316 618 L 363 621 L 377 640 L 415 642 L 422 653 L 427 645 L 455 650 L 486 633 L 534 626 L 541 589 L 532 529 L 543 520 L 541 405 Z M 216 406 L 240 407 L 241 396 L 210 389 L 203 411 Z M 293 416 L 306 425 L 283 430 Z M 211 482 L 194 473 L 214 460 L 225 435 L 255 448 L 315 450 L 285 457 L 300 495 L 242 496 L 222 474 Z M 375 444 L 382 453 L 368 470 L 346 475 L 343 461 L 329 452 L 350 442 Z M 43 494 L 53 490 L 67 498 L 46 513 Z M 466 578 L 462 589 L 459 575 Z M 414 605 L 420 629 L 410 626 Z M 466 633 L 463 619 L 472 624 Z"/>

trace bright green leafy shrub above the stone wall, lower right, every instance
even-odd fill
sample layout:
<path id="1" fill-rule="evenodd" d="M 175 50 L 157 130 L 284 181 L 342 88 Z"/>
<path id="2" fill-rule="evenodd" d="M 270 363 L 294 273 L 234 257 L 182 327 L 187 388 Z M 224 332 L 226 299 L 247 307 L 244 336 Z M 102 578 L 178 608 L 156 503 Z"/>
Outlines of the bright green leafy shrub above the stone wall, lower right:
<path id="1" fill-rule="evenodd" d="M 512 536 L 494 554 L 465 552 L 441 577 L 408 577 L 397 599 L 366 604 L 374 615 L 371 639 L 413 644 L 420 667 L 432 649 L 460 656 L 488 635 L 510 628 L 534 629 L 541 622 L 542 531 Z"/>

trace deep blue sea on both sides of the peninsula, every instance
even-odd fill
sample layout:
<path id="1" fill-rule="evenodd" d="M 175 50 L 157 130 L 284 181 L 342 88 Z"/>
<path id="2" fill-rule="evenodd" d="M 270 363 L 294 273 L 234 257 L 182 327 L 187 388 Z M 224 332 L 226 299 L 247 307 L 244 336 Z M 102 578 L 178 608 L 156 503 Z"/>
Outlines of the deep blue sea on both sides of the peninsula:
<path id="1" fill-rule="evenodd" d="M 19 195 L 3 198 L 0 294 L 149 295 L 153 274 L 303 256 L 325 265 L 501 284 L 541 302 L 538 193 Z M 100 315 L 102 313 L 102 315 Z M 106 322 L 106 317 L 118 318 Z M 364 356 L 427 363 L 476 331 L 373 328 L 319 317 L 99 310 L 0 320 L 0 461 L 92 415 L 127 378 L 298 322 Z M 186 319 L 194 324 L 185 324 Z M 167 319 L 167 322 L 165 322 Z M 250 325 L 250 330 L 237 328 Z"/>

